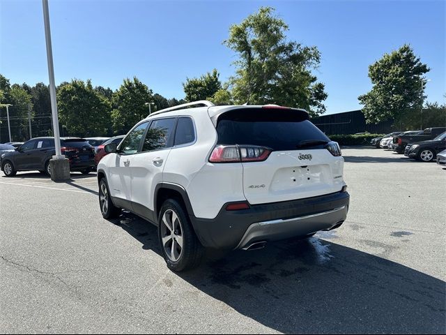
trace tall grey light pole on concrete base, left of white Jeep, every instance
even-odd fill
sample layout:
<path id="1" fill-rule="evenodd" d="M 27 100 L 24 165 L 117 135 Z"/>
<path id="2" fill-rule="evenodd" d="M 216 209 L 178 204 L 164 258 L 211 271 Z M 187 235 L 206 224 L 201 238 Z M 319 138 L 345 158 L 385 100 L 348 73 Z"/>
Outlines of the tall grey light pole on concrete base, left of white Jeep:
<path id="1" fill-rule="evenodd" d="M 53 117 L 53 133 L 54 146 L 56 147 L 56 155 L 49 161 L 51 168 L 51 179 L 53 181 L 62 181 L 70 179 L 70 163 L 61 152 L 61 137 L 59 135 L 59 119 L 57 114 L 56 103 L 56 84 L 54 82 L 54 64 L 53 51 L 51 45 L 51 29 L 49 27 L 49 10 L 48 0 L 42 0 L 43 5 L 43 22 L 45 24 L 45 42 L 47 45 L 47 61 L 49 76 L 49 97 L 51 98 L 51 111 Z"/>

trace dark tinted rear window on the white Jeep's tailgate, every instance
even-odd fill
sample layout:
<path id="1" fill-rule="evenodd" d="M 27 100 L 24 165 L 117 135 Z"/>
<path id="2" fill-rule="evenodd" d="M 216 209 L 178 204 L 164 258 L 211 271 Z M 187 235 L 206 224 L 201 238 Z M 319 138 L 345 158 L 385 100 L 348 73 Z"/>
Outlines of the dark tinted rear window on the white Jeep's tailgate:
<path id="1" fill-rule="evenodd" d="M 275 151 L 298 149 L 304 141 L 330 141 L 306 113 L 294 110 L 232 110 L 220 115 L 217 134 L 218 144 L 258 145 Z"/>

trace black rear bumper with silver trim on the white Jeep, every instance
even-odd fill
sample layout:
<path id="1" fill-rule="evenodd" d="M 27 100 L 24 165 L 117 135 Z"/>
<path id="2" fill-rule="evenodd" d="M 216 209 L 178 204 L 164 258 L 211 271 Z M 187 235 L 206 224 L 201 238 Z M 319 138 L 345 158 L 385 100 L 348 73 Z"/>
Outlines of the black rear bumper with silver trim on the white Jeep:
<path id="1" fill-rule="evenodd" d="M 339 192 L 239 211 L 226 211 L 225 204 L 216 218 L 191 221 L 203 246 L 232 250 L 335 228 L 346 220 L 349 200 L 347 192 Z"/>

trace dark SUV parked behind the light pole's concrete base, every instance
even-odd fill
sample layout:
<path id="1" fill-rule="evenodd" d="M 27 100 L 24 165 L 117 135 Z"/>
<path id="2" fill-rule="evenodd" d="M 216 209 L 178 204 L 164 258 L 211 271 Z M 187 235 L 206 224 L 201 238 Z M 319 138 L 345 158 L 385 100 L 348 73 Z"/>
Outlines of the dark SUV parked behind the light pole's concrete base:
<path id="1" fill-rule="evenodd" d="M 61 151 L 70 162 L 70 171 L 88 174 L 94 169 L 95 149 L 83 138 L 61 137 Z M 0 168 L 6 177 L 13 177 L 17 171 L 51 174 L 49 160 L 55 154 L 54 137 L 36 137 L 1 155 Z"/>

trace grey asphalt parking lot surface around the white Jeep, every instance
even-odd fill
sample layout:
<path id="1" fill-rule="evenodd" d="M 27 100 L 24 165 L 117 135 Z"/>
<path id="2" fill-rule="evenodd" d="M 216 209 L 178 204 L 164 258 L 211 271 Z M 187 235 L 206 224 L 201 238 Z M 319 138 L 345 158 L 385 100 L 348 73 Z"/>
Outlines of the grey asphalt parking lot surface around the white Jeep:
<path id="1" fill-rule="evenodd" d="M 95 174 L 0 177 L 0 332 L 445 333 L 446 170 L 344 149 L 348 221 L 174 274 Z"/>

